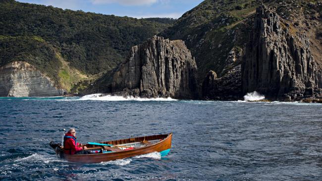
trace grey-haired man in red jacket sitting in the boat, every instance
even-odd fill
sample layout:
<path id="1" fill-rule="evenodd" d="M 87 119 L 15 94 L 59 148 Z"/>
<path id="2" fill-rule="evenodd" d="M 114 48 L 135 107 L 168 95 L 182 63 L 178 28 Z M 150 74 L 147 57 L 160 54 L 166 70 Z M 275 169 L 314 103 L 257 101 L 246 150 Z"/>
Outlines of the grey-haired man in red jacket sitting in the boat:
<path id="1" fill-rule="evenodd" d="M 76 141 L 75 128 L 69 129 L 64 136 L 64 153 L 67 155 L 89 154 L 84 149 L 87 149 L 87 147 Z"/>

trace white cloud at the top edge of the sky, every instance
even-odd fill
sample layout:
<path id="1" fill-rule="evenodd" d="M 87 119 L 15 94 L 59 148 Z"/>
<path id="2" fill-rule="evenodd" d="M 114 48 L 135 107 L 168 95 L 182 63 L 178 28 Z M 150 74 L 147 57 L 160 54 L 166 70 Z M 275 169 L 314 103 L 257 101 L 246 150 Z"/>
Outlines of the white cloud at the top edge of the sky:
<path id="1" fill-rule="evenodd" d="M 121 5 L 150 5 L 158 0 L 91 0 L 93 4 L 110 4 L 118 3 Z"/>

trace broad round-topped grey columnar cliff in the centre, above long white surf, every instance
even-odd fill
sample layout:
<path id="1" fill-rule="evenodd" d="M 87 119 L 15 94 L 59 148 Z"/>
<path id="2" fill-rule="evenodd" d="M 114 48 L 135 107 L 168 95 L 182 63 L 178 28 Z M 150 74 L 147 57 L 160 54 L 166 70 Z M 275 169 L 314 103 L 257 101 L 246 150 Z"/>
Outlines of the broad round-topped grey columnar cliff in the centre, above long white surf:
<path id="1" fill-rule="evenodd" d="M 114 73 L 111 92 L 141 97 L 197 98 L 197 66 L 181 40 L 154 36 L 133 46 Z"/>

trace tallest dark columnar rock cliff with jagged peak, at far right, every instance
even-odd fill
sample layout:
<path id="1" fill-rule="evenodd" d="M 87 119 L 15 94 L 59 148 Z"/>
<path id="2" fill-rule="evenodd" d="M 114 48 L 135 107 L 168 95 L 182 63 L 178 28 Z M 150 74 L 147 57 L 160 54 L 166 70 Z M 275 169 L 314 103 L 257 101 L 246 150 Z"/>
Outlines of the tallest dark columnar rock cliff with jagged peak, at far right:
<path id="1" fill-rule="evenodd" d="M 318 83 L 306 34 L 296 32 L 264 5 L 257 8 L 242 65 L 243 92 L 296 99 L 319 94 Z"/>

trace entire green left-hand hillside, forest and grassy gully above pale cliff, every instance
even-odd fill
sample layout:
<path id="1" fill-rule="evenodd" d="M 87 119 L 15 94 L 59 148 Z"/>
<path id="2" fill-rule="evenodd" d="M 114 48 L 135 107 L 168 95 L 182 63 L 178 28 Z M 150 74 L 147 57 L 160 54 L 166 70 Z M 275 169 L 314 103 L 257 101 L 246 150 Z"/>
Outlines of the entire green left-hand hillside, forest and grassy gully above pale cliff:
<path id="1" fill-rule="evenodd" d="M 0 0 L 0 66 L 14 60 L 28 61 L 53 78 L 57 86 L 70 90 L 70 85 L 82 81 L 72 72 L 77 70 L 83 77 L 113 69 L 131 46 L 158 34 L 173 21 Z M 67 71 L 62 61 L 73 71 Z"/>

